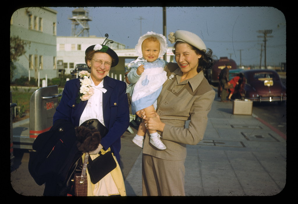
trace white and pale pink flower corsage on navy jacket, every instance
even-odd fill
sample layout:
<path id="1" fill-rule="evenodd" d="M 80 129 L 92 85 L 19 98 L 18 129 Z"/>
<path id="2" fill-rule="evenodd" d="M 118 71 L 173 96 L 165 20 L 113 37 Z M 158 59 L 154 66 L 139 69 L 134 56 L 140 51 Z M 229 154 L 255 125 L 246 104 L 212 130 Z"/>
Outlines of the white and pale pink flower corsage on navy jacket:
<path id="1" fill-rule="evenodd" d="M 79 76 L 82 79 L 80 79 L 81 88 L 79 97 L 77 98 L 77 103 L 80 103 L 81 100 L 88 100 L 94 94 L 94 89 L 91 87 L 91 81 L 89 79 L 90 73 L 88 71 L 80 71 Z"/>

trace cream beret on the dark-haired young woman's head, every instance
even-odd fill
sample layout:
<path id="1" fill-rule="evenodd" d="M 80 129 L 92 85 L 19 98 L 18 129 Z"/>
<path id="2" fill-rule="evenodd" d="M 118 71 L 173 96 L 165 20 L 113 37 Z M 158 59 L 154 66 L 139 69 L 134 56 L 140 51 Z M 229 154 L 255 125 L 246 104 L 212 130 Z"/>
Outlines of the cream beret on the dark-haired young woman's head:
<path id="1" fill-rule="evenodd" d="M 192 32 L 185 31 L 185 30 L 177 30 L 175 33 L 170 32 L 168 35 L 169 41 L 171 43 L 175 43 L 176 41 L 181 41 L 184 43 L 188 43 L 199 50 L 205 50 L 207 51 L 205 43 L 202 41 L 202 39 L 195 35 Z"/>

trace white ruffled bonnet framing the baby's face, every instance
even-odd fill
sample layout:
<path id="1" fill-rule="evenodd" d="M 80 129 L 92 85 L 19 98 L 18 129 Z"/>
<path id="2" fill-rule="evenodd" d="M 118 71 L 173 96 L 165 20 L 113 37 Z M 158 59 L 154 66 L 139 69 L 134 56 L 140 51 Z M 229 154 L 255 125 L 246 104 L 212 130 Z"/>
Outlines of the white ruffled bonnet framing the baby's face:
<path id="1" fill-rule="evenodd" d="M 146 34 L 142 35 L 140 38 L 139 38 L 139 41 L 138 41 L 138 44 L 135 46 L 135 49 L 136 49 L 136 52 L 137 54 L 142 57 L 143 54 L 142 54 L 142 43 L 143 41 L 146 39 L 146 38 L 149 38 L 149 37 L 156 37 L 157 40 L 159 41 L 160 43 L 160 50 L 159 50 L 159 56 L 158 57 L 161 57 L 164 55 L 164 53 L 167 52 L 167 39 L 166 37 L 164 37 L 164 35 L 162 34 L 158 34 L 158 33 L 155 33 L 155 32 L 147 32 Z"/>

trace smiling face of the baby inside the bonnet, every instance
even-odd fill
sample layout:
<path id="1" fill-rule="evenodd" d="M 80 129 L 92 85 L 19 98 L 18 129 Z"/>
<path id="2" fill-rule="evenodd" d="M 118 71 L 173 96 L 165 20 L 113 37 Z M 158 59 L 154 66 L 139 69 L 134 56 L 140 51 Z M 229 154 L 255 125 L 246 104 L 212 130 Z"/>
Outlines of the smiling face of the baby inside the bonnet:
<path id="1" fill-rule="evenodd" d="M 159 56 L 160 43 L 159 41 L 152 41 L 145 39 L 142 43 L 143 58 L 147 62 L 154 62 Z"/>

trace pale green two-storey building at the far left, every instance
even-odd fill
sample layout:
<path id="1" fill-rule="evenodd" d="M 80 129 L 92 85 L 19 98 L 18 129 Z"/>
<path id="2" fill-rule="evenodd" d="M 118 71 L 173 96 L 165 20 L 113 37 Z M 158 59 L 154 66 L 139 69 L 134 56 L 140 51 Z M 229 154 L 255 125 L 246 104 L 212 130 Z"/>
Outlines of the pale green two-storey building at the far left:
<path id="1" fill-rule="evenodd" d="M 16 10 L 10 20 L 10 36 L 24 42 L 26 53 L 15 62 L 13 80 L 21 76 L 57 77 L 56 67 L 57 11 L 48 7 L 27 7 Z"/>

